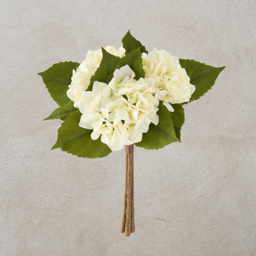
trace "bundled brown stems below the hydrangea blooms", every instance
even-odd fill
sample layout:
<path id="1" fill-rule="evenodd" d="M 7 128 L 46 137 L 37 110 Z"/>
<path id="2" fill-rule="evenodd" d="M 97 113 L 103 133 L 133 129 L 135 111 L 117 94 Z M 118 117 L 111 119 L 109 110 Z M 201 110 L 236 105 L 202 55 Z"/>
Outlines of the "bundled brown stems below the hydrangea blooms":
<path id="1" fill-rule="evenodd" d="M 134 223 L 134 145 L 126 145 L 123 212 L 120 232 L 130 236 L 135 232 Z"/>

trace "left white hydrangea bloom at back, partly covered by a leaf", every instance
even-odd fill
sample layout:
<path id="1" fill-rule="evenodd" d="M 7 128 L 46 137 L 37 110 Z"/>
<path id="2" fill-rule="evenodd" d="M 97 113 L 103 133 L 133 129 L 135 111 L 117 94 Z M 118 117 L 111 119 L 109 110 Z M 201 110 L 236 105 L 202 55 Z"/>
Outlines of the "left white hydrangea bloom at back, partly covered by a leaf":
<path id="1" fill-rule="evenodd" d="M 122 58 L 125 55 L 125 49 L 121 46 L 119 49 L 116 49 L 115 46 L 106 46 L 104 48 L 110 54 Z M 88 51 L 85 61 L 83 61 L 80 66 L 73 70 L 73 76 L 71 78 L 72 82 L 69 85 L 67 95 L 74 101 L 74 107 L 79 107 L 79 102 L 81 100 L 81 92 L 84 92 L 89 84 L 91 77 L 95 74 L 95 71 L 98 69 L 99 64 L 102 60 L 102 49 L 97 51 Z"/>

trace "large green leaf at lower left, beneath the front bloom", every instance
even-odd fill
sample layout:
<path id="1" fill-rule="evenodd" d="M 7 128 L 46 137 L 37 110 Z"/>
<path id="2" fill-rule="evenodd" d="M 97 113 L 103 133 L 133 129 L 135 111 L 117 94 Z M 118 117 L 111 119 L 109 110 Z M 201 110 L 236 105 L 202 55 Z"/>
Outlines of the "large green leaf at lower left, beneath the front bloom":
<path id="1" fill-rule="evenodd" d="M 78 125 L 81 113 L 76 112 L 70 115 L 58 130 L 58 139 L 51 148 L 60 147 L 75 156 L 82 158 L 103 158 L 108 156 L 112 151 L 101 142 L 100 137 L 92 140 L 91 133 L 93 130 L 87 130 Z"/>

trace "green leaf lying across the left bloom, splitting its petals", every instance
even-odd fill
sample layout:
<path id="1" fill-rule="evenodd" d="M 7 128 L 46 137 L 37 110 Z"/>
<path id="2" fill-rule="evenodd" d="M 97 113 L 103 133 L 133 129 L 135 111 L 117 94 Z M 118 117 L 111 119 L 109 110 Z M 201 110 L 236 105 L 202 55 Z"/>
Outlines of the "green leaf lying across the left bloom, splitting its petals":
<path id="1" fill-rule="evenodd" d="M 88 86 L 86 91 L 92 90 L 92 86 L 95 81 L 106 83 L 108 75 L 113 72 L 117 62 L 120 60 L 118 56 L 110 54 L 104 48 L 101 49 L 102 60 L 95 74 L 91 77 L 90 85 Z"/>

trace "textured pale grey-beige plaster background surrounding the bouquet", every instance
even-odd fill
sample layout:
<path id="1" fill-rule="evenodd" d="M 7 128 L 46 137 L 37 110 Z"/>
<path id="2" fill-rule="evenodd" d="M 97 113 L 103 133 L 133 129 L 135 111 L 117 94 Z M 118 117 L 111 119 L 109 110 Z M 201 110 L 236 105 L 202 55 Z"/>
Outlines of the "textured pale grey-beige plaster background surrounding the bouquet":
<path id="1" fill-rule="evenodd" d="M 1 0 L 0 256 L 255 256 L 256 2 Z M 119 233 L 124 149 L 50 150 L 61 121 L 38 72 L 121 46 L 226 66 L 185 106 L 182 143 L 135 148 L 135 225 Z"/>

